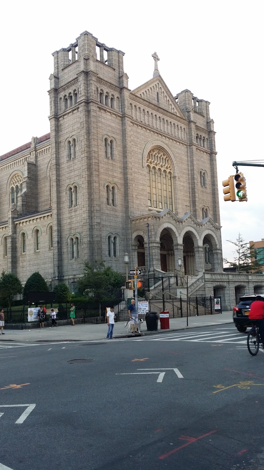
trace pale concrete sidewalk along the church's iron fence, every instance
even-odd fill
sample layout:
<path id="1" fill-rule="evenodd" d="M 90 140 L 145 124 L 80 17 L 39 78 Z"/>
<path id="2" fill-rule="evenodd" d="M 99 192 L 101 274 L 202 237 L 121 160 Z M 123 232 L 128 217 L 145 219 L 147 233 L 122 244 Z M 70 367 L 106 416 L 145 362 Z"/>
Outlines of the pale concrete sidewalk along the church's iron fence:
<path id="1" fill-rule="evenodd" d="M 233 312 L 217 313 L 216 315 L 199 315 L 188 318 L 188 328 L 198 328 L 210 325 L 221 325 L 224 323 L 233 324 Z M 115 324 L 114 338 L 131 336 L 125 328 L 126 321 L 118 321 Z M 141 324 L 141 333 L 159 334 L 179 329 L 186 329 L 186 318 L 170 318 L 170 329 L 160 329 L 158 331 L 147 331 L 146 322 Z M 21 343 L 33 341 L 91 341 L 93 339 L 105 339 L 108 331 L 107 323 L 98 325 L 93 323 L 58 326 L 56 328 L 44 329 L 4 329 L 5 335 L 0 335 L 0 341 L 19 341 Z"/>

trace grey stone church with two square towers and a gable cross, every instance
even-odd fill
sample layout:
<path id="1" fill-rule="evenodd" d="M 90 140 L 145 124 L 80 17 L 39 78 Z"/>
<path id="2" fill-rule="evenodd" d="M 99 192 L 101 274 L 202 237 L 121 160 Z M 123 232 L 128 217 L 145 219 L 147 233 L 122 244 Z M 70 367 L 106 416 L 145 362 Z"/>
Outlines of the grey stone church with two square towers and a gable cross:
<path id="1" fill-rule="evenodd" d="M 71 291 L 85 260 L 125 272 L 126 252 L 146 274 L 222 273 L 210 103 L 171 93 L 156 53 L 131 91 L 124 53 L 88 31 L 53 56 L 50 132 L 0 157 L 0 270 Z"/>

